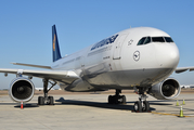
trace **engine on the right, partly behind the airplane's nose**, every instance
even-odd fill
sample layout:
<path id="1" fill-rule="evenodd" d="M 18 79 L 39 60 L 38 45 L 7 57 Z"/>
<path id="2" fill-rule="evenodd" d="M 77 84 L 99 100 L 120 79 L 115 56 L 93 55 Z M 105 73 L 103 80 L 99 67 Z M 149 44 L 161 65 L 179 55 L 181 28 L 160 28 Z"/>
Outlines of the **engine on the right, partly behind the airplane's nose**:
<path id="1" fill-rule="evenodd" d="M 181 92 L 179 82 L 173 78 L 167 78 L 166 80 L 153 86 L 148 89 L 147 93 L 157 100 L 171 100 L 176 99 Z"/>

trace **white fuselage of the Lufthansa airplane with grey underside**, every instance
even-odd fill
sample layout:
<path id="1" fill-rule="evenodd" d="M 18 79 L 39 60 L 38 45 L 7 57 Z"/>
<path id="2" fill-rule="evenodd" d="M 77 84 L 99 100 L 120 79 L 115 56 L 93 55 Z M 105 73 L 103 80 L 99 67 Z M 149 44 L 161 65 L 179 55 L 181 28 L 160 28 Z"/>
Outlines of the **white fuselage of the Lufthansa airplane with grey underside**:
<path id="1" fill-rule="evenodd" d="M 81 77 L 72 84 L 60 82 L 67 91 L 151 87 L 171 75 L 179 63 L 174 42 L 152 39 L 161 37 L 170 36 L 151 27 L 122 30 L 54 62 L 52 69 L 74 70 Z M 138 44 L 142 38 L 151 41 Z"/>

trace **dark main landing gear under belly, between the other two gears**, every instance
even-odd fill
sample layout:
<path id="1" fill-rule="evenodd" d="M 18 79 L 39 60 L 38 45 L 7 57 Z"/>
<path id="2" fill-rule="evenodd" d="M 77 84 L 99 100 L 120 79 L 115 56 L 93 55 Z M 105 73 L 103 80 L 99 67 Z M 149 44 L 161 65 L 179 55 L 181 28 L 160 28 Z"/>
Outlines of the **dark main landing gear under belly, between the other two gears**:
<path id="1" fill-rule="evenodd" d="M 121 90 L 116 89 L 115 95 L 108 96 L 108 104 L 126 104 L 126 95 L 119 95 Z"/>

